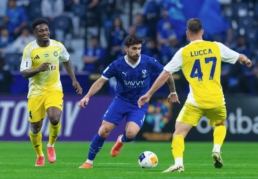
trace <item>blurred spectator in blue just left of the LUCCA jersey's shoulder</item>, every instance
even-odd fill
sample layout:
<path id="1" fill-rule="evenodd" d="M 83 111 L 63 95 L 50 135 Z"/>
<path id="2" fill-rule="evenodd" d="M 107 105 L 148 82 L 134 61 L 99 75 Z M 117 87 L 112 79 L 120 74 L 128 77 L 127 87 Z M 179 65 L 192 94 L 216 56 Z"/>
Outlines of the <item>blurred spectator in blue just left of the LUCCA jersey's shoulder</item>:
<path id="1" fill-rule="evenodd" d="M 158 30 L 160 30 L 157 33 L 157 38 L 158 44 L 161 46 L 161 64 L 166 65 L 178 50 L 179 41 L 169 22 L 164 22 L 163 27 Z"/>

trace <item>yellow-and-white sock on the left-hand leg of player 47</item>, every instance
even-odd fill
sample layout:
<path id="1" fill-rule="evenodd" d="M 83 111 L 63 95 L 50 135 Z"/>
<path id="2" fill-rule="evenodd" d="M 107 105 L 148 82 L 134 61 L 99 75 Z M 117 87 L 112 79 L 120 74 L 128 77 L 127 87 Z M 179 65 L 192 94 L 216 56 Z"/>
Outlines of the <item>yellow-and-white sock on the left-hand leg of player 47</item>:
<path id="1" fill-rule="evenodd" d="M 172 140 L 172 154 L 175 159 L 175 165 L 183 164 L 184 152 L 184 137 L 182 135 L 175 135 Z"/>

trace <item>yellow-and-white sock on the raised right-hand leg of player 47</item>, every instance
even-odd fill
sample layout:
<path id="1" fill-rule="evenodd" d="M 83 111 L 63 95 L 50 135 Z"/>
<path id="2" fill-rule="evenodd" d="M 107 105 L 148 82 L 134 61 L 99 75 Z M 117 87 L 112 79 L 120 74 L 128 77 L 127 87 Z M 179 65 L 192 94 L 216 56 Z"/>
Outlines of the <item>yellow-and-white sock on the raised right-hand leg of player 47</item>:
<path id="1" fill-rule="evenodd" d="M 226 136 L 226 127 L 225 126 L 222 126 L 222 125 L 219 125 L 219 126 L 215 126 L 215 130 L 213 132 L 213 137 L 214 137 L 214 147 L 213 147 L 213 150 L 214 149 L 218 149 L 219 152 L 220 152 L 220 147 L 222 146 L 222 143 L 225 139 L 225 136 Z"/>

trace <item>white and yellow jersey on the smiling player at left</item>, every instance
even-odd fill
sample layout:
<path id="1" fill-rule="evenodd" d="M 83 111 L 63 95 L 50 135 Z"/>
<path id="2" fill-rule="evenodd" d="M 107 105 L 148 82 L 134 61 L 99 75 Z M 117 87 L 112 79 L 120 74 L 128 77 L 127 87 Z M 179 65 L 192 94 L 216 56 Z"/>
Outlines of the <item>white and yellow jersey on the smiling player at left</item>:
<path id="1" fill-rule="evenodd" d="M 47 71 L 29 78 L 28 98 L 40 96 L 49 91 L 62 92 L 58 59 L 66 62 L 70 55 L 62 43 L 51 39 L 49 41 L 48 47 L 39 47 L 35 40 L 24 49 L 21 71 L 38 68 L 45 62 L 51 63 Z"/>

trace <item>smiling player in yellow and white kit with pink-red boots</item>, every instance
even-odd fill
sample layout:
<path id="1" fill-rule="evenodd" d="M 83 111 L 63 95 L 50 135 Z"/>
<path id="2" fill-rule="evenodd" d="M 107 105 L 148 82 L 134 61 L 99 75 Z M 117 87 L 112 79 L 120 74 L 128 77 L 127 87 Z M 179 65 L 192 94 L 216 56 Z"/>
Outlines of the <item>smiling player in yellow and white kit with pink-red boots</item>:
<path id="1" fill-rule="evenodd" d="M 29 78 L 28 114 L 30 121 L 30 140 L 37 153 L 35 166 L 44 166 L 45 157 L 42 152 L 41 127 L 46 112 L 50 120 L 49 142 L 47 145 L 48 161 L 54 163 L 56 154 L 54 143 L 57 139 L 61 124 L 63 93 L 59 74 L 59 60 L 73 81 L 76 92 L 82 94 L 82 88 L 77 82 L 69 53 L 61 44 L 49 39 L 48 22 L 36 19 L 32 23 L 33 35 L 36 40 L 24 49 L 21 72 L 23 78 Z"/>

